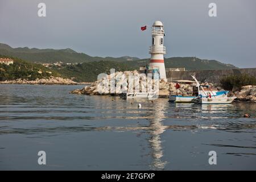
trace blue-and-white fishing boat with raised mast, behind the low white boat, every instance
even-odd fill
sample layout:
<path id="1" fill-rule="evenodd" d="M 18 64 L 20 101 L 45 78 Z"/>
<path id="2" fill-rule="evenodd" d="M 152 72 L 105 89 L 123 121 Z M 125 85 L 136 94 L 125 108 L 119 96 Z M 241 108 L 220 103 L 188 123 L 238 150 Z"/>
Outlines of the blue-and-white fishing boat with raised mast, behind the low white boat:
<path id="1" fill-rule="evenodd" d="M 201 96 L 202 98 L 207 98 L 209 94 L 212 97 L 216 98 L 224 98 L 228 95 L 229 91 L 216 91 L 216 90 L 209 90 L 208 85 L 200 85 L 199 81 L 197 81 L 195 75 L 192 75 L 193 80 L 195 81 L 190 81 L 190 80 L 177 80 L 177 82 L 185 82 L 188 84 L 193 84 L 196 83 L 196 85 L 192 85 L 191 90 L 192 94 L 189 96 L 180 96 L 180 95 L 173 95 L 170 94 L 169 96 L 169 101 L 170 102 L 192 102 L 193 98 L 196 98 L 197 96 Z"/>

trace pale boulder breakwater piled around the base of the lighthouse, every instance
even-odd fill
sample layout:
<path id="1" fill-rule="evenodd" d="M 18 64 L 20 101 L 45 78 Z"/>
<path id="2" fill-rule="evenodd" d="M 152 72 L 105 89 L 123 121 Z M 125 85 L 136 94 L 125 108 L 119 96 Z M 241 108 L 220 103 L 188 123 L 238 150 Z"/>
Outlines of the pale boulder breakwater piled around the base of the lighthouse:
<path id="1" fill-rule="evenodd" d="M 110 89 L 110 78 L 111 77 L 115 77 L 118 79 L 115 79 L 115 85 L 121 85 L 121 83 L 123 81 L 126 81 L 127 84 L 127 88 L 129 88 L 129 75 L 133 74 L 134 77 L 139 77 L 139 72 L 137 71 L 125 71 L 125 72 L 115 72 L 112 73 L 115 75 L 108 75 L 107 78 L 102 78 L 101 80 L 97 80 L 95 82 L 93 82 L 92 84 L 88 85 L 88 86 L 84 86 L 84 88 L 82 89 L 75 89 L 73 91 L 71 91 L 70 93 L 73 94 L 86 94 L 86 95 L 106 95 L 106 94 L 102 94 L 101 92 L 99 92 L 98 90 L 98 85 L 102 82 L 103 84 L 108 84 L 109 89 Z M 122 77 L 122 75 L 125 75 L 125 77 Z M 154 84 L 154 81 L 152 81 Z M 139 90 L 140 92 L 142 92 L 143 89 L 145 89 L 147 87 L 146 82 L 141 82 L 139 81 L 137 84 L 139 84 Z M 168 98 L 169 93 L 174 93 L 174 94 L 180 94 L 180 95 L 190 95 L 192 94 L 192 90 L 191 90 L 191 86 L 189 84 L 180 84 L 180 88 L 176 89 L 175 88 L 176 83 L 174 82 L 166 82 L 164 80 L 160 80 L 159 81 L 159 97 L 165 97 Z M 133 85 L 133 89 L 135 89 L 136 83 Z M 109 90 L 110 91 L 110 90 Z M 112 94 L 114 96 L 118 96 L 118 94 L 120 93 L 120 89 L 117 89 L 117 87 L 115 88 L 115 93 Z M 107 95 L 110 94 L 107 93 Z"/>

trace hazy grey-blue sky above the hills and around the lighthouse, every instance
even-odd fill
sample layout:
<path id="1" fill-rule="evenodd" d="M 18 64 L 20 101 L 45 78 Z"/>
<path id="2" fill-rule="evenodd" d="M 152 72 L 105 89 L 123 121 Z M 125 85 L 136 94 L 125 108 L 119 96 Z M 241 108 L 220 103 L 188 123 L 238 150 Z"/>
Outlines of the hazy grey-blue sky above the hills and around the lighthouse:
<path id="1" fill-rule="evenodd" d="M 46 3 L 46 17 L 38 3 Z M 217 4 L 217 17 L 208 5 Z M 151 31 L 164 23 L 165 57 L 197 56 L 256 67 L 255 0 L 0 0 L 0 42 L 72 48 L 91 56 L 150 57 Z"/>

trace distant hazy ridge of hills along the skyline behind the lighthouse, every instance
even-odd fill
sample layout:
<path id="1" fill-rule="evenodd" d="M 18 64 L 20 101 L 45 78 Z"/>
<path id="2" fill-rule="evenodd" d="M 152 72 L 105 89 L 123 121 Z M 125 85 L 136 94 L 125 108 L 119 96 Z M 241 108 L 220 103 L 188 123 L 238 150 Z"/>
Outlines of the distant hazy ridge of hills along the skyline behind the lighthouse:
<path id="1" fill-rule="evenodd" d="M 138 57 L 93 57 L 85 53 L 78 53 L 70 48 L 67 49 L 38 49 L 19 47 L 12 48 L 7 44 L 0 43 L 0 54 L 19 57 L 32 63 L 88 63 L 91 61 L 117 61 L 137 69 L 148 63 L 149 59 L 139 59 Z M 208 69 L 230 69 L 237 68 L 232 64 L 224 64 L 217 60 L 202 60 L 197 57 L 170 57 L 165 58 L 166 68 L 184 67 L 187 70 L 208 70 Z"/>

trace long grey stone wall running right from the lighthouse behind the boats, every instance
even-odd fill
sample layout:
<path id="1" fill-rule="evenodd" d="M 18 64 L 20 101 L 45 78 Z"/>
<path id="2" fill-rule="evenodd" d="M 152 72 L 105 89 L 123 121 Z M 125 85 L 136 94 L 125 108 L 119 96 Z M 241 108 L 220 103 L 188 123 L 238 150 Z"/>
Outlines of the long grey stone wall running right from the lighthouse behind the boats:
<path id="1" fill-rule="evenodd" d="M 247 73 L 249 75 L 256 77 L 256 68 L 242 68 L 242 69 L 221 69 L 221 70 L 204 70 L 204 71 L 167 71 L 166 76 L 168 81 L 174 80 L 193 80 L 191 75 L 196 73 L 196 78 L 199 81 L 219 83 L 221 77 L 229 75 L 241 75 L 242 73 Z"/>

